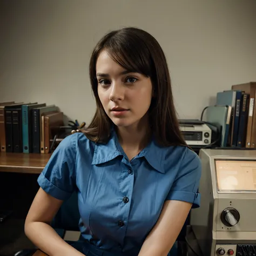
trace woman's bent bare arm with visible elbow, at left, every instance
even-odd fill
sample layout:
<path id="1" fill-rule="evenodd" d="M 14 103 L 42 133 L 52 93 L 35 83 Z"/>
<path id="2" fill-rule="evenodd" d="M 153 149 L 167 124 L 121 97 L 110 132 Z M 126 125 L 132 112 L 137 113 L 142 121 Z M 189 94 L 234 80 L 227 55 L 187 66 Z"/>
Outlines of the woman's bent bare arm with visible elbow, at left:
<path id="1" fill-rule="evenodd" d="M 25 234 L 33 244 L 50 256 L 84 256 L 60 238 L 50 226 L 62 203 L 62 200 L 39 188 L 26 217 Z"/>

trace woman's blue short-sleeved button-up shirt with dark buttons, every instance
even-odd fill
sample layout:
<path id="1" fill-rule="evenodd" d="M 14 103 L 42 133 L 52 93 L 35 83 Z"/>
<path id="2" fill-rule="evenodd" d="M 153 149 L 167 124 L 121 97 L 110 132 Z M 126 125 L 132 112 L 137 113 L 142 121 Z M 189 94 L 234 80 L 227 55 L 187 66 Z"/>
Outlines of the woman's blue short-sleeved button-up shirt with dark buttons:
<path id="1" fill-rule="evenodd" d="M 106 144 L 75 133 L 58 145 L 38 183 L 61 200 L 78 191 L 79 227 L 90 244 L 138 255 L 165 200 L 199 206 L 200 174 L 199 157 L 185 146 L 152 139 L 129 161 L 114 131 Z"/>

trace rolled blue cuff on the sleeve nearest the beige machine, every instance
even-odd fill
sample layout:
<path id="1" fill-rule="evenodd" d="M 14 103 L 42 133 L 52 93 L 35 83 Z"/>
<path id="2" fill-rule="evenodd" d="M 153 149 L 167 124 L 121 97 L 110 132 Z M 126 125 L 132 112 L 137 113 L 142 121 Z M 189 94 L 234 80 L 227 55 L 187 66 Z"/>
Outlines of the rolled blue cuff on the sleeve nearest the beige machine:
<path id="1" fill-rule="evenodd" d="M 192 208 L 200 207 L 200 193 L 188 192 L 188 191 L 171 191 L 166 197 L 166 200 L 177 200 L 192 203 Z"/>

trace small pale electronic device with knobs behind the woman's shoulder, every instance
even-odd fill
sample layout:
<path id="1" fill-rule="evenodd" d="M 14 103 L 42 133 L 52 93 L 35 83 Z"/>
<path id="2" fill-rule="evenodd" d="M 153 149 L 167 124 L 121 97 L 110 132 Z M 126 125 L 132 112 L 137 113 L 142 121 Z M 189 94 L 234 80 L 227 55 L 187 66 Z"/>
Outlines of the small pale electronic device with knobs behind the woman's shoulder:
<path id="1" fill-rule="evenodd" d="M 180 123 L 180 131 L 190 146 L 206 146 L 211 144 L 212 130 L 207 124 Z"/>

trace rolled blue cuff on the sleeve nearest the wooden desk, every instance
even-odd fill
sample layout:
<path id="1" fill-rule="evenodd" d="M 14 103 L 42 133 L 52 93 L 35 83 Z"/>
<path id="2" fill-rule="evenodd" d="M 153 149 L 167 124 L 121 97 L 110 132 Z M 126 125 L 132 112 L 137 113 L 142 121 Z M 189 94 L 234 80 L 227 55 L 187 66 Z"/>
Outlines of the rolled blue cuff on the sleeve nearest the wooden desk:
<path id="1" fill-rule="evenodd" d="M 43 173 L 40 174 L 40 176 L 37 179 L 37 182 L 39 186 L 41 186 L 46 193 L 50 194 L 50 196 L 56 199 L 66 200 L 72 194 L 72 193 L 60 190 L 60 188 L 53 185 L 48 179 L 45 178 Z"/>

